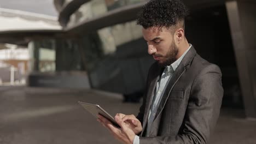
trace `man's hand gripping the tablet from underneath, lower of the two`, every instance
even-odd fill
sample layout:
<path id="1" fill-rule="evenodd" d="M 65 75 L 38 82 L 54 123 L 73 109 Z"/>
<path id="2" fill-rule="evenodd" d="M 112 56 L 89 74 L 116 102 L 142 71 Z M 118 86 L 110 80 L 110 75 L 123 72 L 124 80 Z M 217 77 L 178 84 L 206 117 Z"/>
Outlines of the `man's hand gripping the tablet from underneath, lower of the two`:
<path id="1" fill-rule="evenodd" d="M 121 128 L 115 127 L 108 119 L 104 118 L 101 115 L 98 115 L 98 122 L 100 122 L 104 127 L 106 127 L 112 135 L 114 135 L 115 139 L 121 141 L 125 144 L 132 144 L 135 133 L 127 127 L 127 124 L 122 121 L 120 116 L 115 116 L 115 121 L 120 125 Z"/>

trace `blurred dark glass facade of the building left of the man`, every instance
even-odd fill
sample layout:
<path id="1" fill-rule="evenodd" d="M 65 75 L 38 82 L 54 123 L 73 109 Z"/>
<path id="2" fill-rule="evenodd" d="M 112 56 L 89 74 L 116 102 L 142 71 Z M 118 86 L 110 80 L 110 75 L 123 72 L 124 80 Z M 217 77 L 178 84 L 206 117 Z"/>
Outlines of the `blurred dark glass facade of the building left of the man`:
<path id="1" fill-rule="evenodd" d="M 64 29 L 138 2 L 141 1 L 89 1 L 69 17 Z M 29 47 L 33 71 L 86 73 L 91 88 L 122 94 L 142 92 L 154 62 L 135 20 L 69 38 L 34 40 Z"/>

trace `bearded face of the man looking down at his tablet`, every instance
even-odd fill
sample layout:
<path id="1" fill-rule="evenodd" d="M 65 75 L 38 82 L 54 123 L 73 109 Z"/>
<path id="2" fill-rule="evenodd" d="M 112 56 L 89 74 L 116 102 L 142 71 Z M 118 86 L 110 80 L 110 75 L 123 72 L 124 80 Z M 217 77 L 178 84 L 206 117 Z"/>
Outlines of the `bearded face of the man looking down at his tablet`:
<path id="1" fill-rule="evenodd" d="M 148 53 L 160 65 L 166 66 L 176 61 L 178 47 L 176 46 L 171 29 L 150 27 L 142 29 L 143 37 L 148 44 Z"/>

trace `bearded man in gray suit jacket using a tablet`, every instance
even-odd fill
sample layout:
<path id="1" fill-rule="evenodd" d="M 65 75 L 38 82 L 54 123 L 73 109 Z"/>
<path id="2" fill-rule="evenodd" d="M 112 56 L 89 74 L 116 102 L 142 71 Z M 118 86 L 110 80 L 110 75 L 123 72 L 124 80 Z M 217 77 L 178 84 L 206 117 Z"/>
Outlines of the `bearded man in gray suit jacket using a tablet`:
<path id="1" fill-rule="evenodd" d="M 179 0 L 149 1 L 139 14 L 137 23 L 156 61 L 149 69 L 143 104 L 137 117 L 115 116 L 121 128 L 102 116 L 97 119 L 121 142 L 209 142 L 222 103 L 222 74 L 185 38 L 187 15 Z"/>

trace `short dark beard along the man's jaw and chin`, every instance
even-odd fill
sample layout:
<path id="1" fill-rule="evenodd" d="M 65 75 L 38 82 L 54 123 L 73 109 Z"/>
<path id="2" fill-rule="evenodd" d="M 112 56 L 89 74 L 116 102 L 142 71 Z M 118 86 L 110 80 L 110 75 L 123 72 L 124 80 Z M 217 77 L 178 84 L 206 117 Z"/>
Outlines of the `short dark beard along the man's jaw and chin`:
<path id="1" fill-rule="evenodd" d="M 172 45 L 166 54 L 166 58 L 167 58 L 166 61 L 163 63 L 158 63 L 158 64 L 162 67 L 171 65 L 172 63 L 174 63 L 177 60 L 177 58 L 176 58 L 177 55 L 178 55 L 178 48 L 175 45 L 174 41 L 172 41 Z"/>

